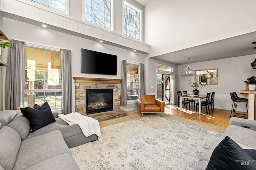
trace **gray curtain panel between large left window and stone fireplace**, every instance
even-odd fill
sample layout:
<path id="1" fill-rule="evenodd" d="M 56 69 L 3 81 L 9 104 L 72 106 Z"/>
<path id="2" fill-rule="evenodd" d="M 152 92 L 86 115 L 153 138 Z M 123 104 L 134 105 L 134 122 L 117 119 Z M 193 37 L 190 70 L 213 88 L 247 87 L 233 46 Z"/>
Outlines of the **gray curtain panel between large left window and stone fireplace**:
<path id="1" fill-rule="evenodd" d="M 62 77 L 62 114 L 72 113 L 71 51 L 60 49 Z"/>

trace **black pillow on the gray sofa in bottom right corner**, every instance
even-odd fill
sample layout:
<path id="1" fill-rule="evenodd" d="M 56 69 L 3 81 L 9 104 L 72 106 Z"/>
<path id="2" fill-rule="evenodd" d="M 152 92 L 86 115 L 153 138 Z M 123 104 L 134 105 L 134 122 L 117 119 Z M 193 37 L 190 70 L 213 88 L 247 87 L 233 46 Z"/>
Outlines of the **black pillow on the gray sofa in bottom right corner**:
<path id="1" fill-rule="evenodd" d="M 251 156 L 255 154 L 256 150 L 244 150 L 226 136 L 212 152 L 206 170 L 255 170 L 256 162 Z"/>

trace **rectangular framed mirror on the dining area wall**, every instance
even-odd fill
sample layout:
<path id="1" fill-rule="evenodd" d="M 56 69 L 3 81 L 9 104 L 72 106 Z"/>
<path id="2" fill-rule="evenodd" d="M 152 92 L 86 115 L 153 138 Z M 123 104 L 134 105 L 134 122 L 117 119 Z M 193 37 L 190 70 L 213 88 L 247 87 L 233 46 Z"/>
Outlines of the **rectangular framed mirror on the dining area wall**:
<path id="1" fill-rule="evenodd" d="M 196 70 L 195 81 L 198 84 L 218 84 L 218 68 Z"/>

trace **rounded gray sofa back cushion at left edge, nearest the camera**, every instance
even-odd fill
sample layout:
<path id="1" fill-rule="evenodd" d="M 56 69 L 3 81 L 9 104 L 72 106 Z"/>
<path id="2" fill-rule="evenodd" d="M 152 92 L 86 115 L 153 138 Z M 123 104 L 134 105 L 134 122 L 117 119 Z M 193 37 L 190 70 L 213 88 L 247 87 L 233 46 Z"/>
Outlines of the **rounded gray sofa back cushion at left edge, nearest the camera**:
<path id="1" fill-rule="evenodd" d="M 0 129 L 0 166 L 5 170 L 12 170 L 17 153 L 20 149 L 20 135 L 8 126 Z"/>

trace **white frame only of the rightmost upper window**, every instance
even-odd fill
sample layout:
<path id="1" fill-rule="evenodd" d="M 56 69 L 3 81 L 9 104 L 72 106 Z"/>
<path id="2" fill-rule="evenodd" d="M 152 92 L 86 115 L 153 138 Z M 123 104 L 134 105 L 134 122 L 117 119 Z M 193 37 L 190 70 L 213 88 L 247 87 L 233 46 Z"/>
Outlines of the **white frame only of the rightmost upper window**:
<path id="1" fill-rule="evenodd" d="M 137 11 L 140 13 L 140 29 L 139 29 L 139 39 L 135 39 L 132 37 L 129 37 L 127 35 L 124 35 L 124 5 L 132 8 L 133 10 Z M 136 41 L 142 41 L 142 14 L 143 14 L 143 10 L 138 8 L 137 6 L 134 6 L 133 4 L 131 4 L 130 2 L 123 0 L 122 3 L 122 35 L 124 35 L 125 37 L 128 37 L 130 39 L 136 40 Z"/>

